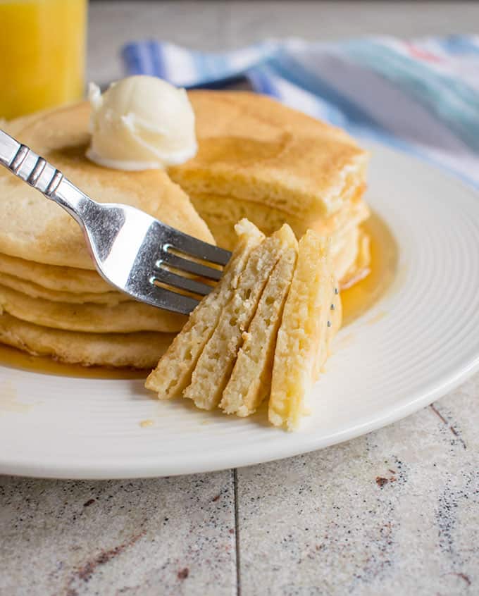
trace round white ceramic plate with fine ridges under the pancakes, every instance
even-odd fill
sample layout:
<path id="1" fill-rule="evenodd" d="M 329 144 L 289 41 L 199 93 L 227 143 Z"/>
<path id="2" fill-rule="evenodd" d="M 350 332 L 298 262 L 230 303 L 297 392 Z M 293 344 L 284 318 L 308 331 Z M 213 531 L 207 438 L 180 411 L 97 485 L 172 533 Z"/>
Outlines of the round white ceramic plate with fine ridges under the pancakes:
<path id="1" fill-rule="evenodd" d="M 0 367 L 0 473 L 127 478 L 256 464 L 367 433 L 466 380 L 479 368 L 479 195 L 382 147 L 369 182 L 367 200 L 399 244 L 399 274 L 337 336 L 299 432 L 156 402 L 140 380 Z M 140 426 L 146 419 L 154 425 Z"/>

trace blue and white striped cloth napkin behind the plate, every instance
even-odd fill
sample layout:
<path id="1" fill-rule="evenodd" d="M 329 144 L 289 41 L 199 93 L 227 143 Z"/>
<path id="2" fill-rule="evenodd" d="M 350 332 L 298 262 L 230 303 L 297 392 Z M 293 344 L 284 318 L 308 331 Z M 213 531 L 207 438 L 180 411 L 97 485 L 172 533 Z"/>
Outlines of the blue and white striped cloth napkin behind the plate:
<path id="1" fill-rule="evenodd" d="M 479 36 L 268 40 L 221 54 L 145 41 L 127 44 L 122 56 L 127 75 L 178 87 L 247 77 L 259 93 L 479 187 Z"/>

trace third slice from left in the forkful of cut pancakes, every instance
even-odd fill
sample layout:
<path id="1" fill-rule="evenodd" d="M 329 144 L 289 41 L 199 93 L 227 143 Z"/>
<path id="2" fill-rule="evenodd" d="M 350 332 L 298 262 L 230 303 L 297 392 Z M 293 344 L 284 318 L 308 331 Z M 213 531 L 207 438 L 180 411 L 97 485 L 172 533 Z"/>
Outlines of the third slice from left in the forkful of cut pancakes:
<path id="1" fill-rule="evenodd" d="M 226 414 L 249 416 L 269 395 L 276 336 L 297 259 L 297 242 L 294 244 L 276 263 L 243 334 L 244 342 L 220 402 Z"/>

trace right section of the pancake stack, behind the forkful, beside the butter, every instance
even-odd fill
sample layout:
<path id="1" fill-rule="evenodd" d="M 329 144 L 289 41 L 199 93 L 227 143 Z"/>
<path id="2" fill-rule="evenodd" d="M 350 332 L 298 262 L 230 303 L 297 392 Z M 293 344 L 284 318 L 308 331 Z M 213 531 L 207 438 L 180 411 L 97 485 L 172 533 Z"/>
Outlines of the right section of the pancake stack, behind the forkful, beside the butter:
<path id="1" fill-rule="evenodd" d="M 195 91 L 199 151 L 170 168 L 218 246 L 232 249 L 248 218 L 267 235 L 288 223 L 331 238 L 341 287 L 368 272 L 362 200 L 368 154 L 339 128 L 249 92 Z"/>

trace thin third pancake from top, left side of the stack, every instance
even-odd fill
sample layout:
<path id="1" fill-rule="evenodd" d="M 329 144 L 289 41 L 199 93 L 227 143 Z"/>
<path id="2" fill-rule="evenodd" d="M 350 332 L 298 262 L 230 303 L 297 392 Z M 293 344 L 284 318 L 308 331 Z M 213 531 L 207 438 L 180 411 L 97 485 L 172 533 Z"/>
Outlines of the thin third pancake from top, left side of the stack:
<path id="1" fill-rule="evenodd" d="M 15 277 L 15 275 L 8 275 L 8 273 L 0 273 L 0 285 L 16 290 L 22 294 L 30 296 L 30 298 L 43 298 L 51 302 L 71 302 L 73 304 L 85 304 L 85 302 L 92 302 L 93 304 L 106 304 L 107 306 L 116 306 L 120 302 L 131 301 L 127 294 L 116 292 L 112 289 L 111 292 L 58 292 L 56 290 L 49 290 L 42 285 L 31 282 L 29 280 Z"/>

